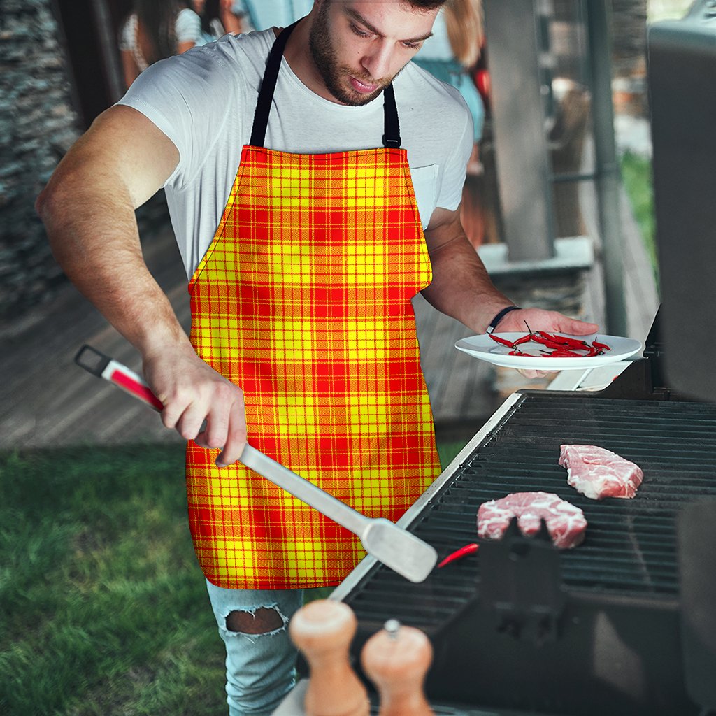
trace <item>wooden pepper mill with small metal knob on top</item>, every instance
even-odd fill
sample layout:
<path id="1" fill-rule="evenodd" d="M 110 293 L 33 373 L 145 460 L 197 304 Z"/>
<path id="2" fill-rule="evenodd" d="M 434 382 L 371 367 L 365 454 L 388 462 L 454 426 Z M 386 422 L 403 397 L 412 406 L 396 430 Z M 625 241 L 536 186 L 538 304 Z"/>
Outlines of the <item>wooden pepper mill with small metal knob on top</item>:
<path id="1" fill-rule="evenodd" d="M 431 662 L 430 640 L 396 619 L 368 639 L 361 663 L 380 695 L 379 716 L 434 716 L 422 688 Z"/>

